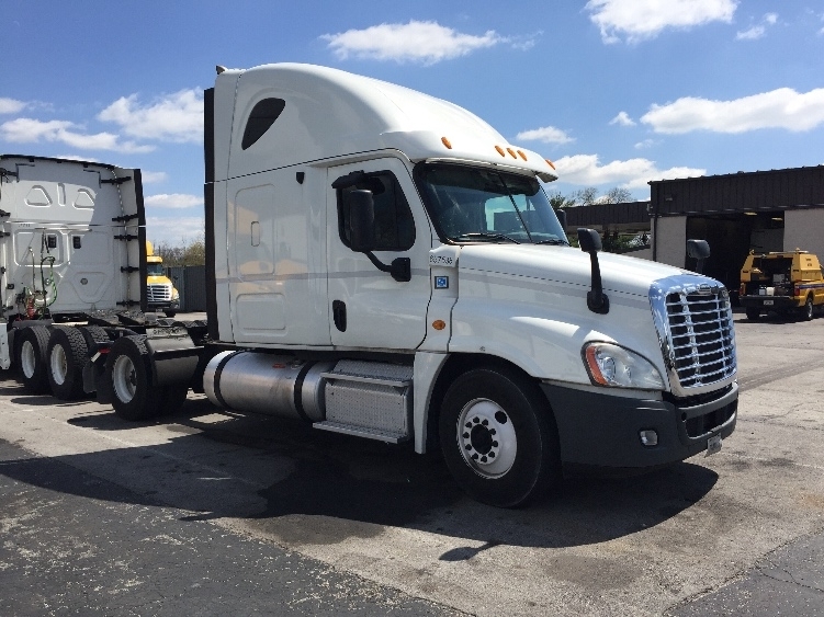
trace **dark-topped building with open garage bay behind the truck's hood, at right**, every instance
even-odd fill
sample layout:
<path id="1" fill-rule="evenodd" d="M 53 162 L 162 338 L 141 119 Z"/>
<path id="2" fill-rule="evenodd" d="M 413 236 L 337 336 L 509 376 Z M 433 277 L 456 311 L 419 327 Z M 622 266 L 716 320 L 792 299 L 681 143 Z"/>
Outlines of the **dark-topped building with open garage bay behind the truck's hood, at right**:
<path id="1" fill-rule="evenodd" d="M 738 288 L 750 250 L 798 249 L 824 255 L 824 165 L 650 182 L 650 202 L 567 208 L 567 232 L 651 233 L 650 249 L 633 252 L 678 267 L 692 267 L 687 239 L 712 251 L 703 272 Z"/>

